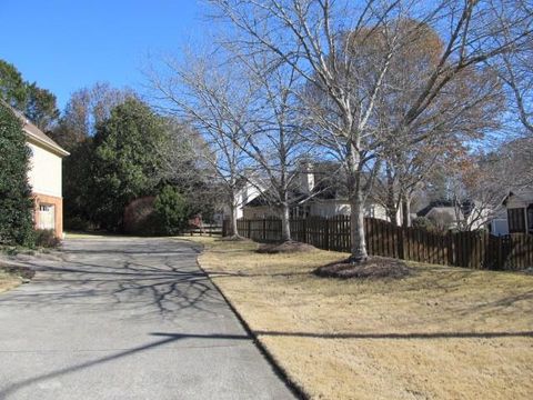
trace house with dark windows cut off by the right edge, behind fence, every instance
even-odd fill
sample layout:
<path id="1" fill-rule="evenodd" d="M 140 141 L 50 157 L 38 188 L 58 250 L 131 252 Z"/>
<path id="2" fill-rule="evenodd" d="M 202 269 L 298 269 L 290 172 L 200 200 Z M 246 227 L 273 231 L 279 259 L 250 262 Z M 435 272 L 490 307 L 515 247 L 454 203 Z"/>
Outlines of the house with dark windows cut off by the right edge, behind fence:
<path id="1" fill-rule="evenodd" d="M 533 190 L 511 191 L 503 200 L 509 233 L 533 234 Z"/>

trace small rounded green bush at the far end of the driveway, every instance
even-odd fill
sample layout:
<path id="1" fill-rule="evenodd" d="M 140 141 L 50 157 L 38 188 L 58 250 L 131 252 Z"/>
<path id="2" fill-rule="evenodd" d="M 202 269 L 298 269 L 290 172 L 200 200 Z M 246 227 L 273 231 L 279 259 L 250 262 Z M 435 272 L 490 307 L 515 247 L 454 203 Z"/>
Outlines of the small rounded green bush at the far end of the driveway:
<path id="1" fill-rule="evenodd" d="M 161 234 L 178 234 L 188 224 L 189 207 L 184 197 L 173 187 L 167 186 L 153 202 Z"/>

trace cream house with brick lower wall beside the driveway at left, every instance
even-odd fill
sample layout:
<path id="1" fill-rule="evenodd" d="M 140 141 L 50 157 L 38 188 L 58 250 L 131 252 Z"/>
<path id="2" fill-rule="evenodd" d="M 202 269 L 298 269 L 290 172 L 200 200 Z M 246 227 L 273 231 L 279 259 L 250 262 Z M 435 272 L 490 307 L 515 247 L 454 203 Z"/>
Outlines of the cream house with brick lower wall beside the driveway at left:
<path id="1" fill-rule="evenodd" d="M 37 229 L 52 229 L 63 236 L 62 158 L 69 156 L 52 139 L 17 112 L 30 148 L 28 180 L 36 203 L 33 221 Z"/>

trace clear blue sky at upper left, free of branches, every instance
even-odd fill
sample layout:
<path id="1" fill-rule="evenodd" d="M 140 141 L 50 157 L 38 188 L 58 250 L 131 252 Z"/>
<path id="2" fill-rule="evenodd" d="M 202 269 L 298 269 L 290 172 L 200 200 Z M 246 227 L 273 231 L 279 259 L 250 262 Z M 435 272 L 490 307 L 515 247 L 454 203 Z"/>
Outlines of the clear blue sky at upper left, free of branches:
<path id="1" fill-rule="evenodd" d="M 142 89 L 148 54 L 201 33 L 195 0 L 0 0 L 0 59 L 58 97 L 107 81 Z"/>

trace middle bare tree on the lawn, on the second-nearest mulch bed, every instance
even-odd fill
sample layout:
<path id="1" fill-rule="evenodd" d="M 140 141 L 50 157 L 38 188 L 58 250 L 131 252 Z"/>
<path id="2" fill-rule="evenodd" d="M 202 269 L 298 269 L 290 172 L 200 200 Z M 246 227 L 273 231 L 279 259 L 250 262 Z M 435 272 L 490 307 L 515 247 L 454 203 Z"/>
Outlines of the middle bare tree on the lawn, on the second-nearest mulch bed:
<path id="1" fill-rule="evenodd" d="M 249 131 L 242 150 L 262 172 L 263 198 L 270 207 L 279 210 L 282 221 L 281 238 L 291 241 L 290 210 L 313 196 L 311 190 L 301 188 L 305 171 L 304 159 L 311 159 L 311 142 L 304 140 L 300 118 L 296 87 L 298 71 L 290 64 L 272 67 L 264 54 L 243 57 L 233 51 L 233 63 L 242 68 L 253 86 L 253 101 L 250 107 Z M 254 181 L 250 181 L 254 184 Z M 306 188 L 312 189 L 312 188 Z"/>

